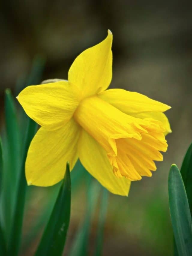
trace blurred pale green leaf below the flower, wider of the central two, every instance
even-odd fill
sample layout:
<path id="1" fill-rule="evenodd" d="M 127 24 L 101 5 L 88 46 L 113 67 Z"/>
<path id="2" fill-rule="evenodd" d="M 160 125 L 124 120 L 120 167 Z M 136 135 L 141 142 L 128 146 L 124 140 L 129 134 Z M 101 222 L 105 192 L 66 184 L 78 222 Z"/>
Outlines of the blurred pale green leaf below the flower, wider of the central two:
<path id="1" fill-rule="evenodd" d="M 88 255 L 88 238 L 91 227 L 91 220 L 95 206 L 98 201 L 101 186 L 91 176 L 88 176 L 87 189 L 87 210 L 85 219 L 76 233 L 75 240 L 70 250 L 69 256 L 85 256 Z"/>

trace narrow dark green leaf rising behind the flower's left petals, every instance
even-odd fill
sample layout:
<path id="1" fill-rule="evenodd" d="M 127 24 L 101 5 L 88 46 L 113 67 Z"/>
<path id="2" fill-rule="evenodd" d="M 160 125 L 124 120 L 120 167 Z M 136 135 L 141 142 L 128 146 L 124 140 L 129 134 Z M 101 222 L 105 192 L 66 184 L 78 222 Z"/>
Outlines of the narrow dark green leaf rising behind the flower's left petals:
<path id="1" fill-rule="evenodd" d="M 26 197 L 26 189 L 27 182 L 25 177 L 25 162 L 27 157 L 27 152 L 29 149 L 29 145 L 37 131 L 37 124 L 29 119 L 28 129 L 25 139 L 25 150 L 23 152 L 22 164 L 19 172 L 19 181 L 18 187 L 16 190 L 16 201 L 14 205 L 13 211 L 13 223 L 10 233 L 10 240 L 8 244 L 8 255 L 17 255 L 20 247 L 21 240 L 21 231 L 22 231 L 22 221 L 25 207 L 25 197 Z"/>

